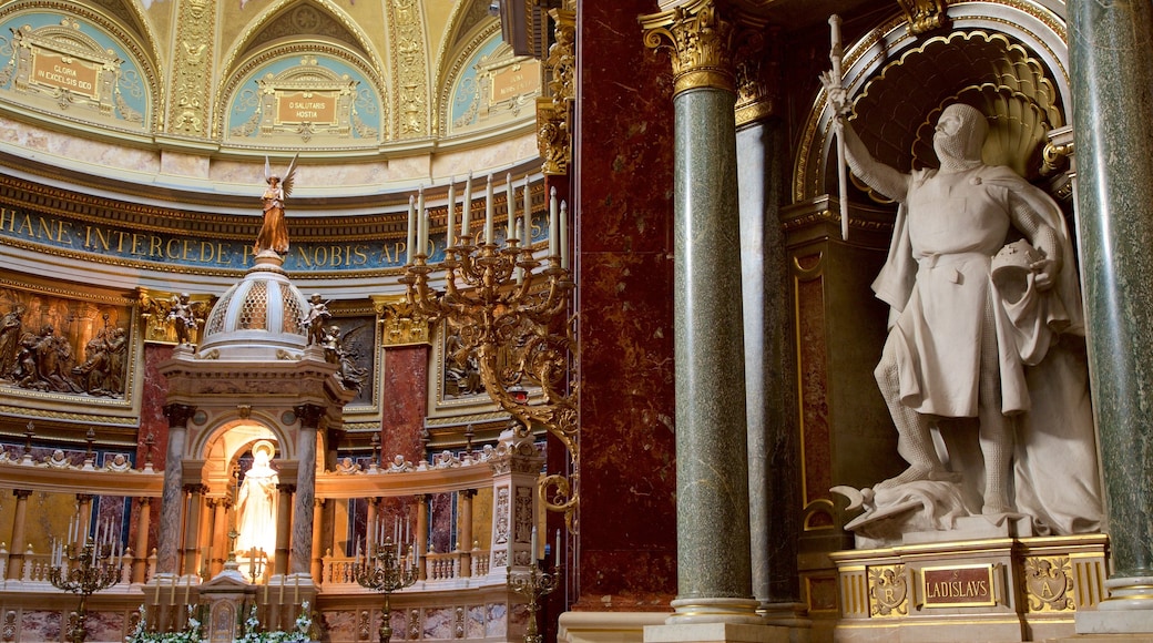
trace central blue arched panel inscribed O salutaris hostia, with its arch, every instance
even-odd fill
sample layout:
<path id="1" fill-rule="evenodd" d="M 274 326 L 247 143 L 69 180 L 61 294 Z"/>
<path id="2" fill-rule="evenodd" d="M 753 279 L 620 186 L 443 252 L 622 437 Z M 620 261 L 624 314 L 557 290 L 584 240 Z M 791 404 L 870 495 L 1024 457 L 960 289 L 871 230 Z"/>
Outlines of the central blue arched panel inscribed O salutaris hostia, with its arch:
<path id="1" fill-rule="evenodd" d="M 311 36 L 302 41 L 301 32 Z M 276 145 L 277 137 L 286 133 L 295 133 L 296 136 L 280 143 L 356 147 L 375 145 L 389 135 L 383 63 L 367 35 L 329 0 L 287 0 L 271 5 L 243 30 L 238 45 L 224 60 L 221 69 L 225 71 L 217 92 L 220 99 L 213 119 L 217 123 L 214 137 L 239 144 L 258 142 L 266 146 Z M 340 112 L 301 115 L 286 111 L 279 114 L 286 118 L 277 118 L 262 105 L 263 91 L 282 96 L 285 91 L 307 92 L 310 86 L 322 92 L 322 100 L 317 103 L 325 105 L 318 105 L 319 111 L 326 109 L 329 103 L 336 109 L 336 103 L 341 101 Z M 349 93 L 338 98 L 333 93 L 338 90 Z M 288 108 L 287 101 L 278 106 Z M 280 124 L 265 122 L 262 129 L 259 118 L 249 122 L 254 113 Z M 323 124 L 309 120 L 327 116 L 333 118 Z"/>

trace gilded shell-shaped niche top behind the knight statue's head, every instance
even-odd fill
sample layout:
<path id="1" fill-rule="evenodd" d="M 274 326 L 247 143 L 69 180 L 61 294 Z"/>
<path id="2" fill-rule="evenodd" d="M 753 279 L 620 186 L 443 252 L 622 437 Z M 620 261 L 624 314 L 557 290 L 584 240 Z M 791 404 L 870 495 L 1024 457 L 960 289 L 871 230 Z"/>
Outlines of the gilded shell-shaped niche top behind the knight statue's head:
<path id="1" fill-rule="evenodd" d="M 906 172 L 936 166 L 936 118 L 945 105 L 966 103 L 989 118 L 985 160 L 1035 179 L 1048 133 L 1067 121 L 1061 16 L 1035 5 L 974 2 L 950 6 L 949 18 L 949 31 L 915 37 L 895 15 L 847 48 L 854 128 L 879 160 Z M 802 131 L 794 201 L 837 192 L 830 133 L 821 92 Z"/>

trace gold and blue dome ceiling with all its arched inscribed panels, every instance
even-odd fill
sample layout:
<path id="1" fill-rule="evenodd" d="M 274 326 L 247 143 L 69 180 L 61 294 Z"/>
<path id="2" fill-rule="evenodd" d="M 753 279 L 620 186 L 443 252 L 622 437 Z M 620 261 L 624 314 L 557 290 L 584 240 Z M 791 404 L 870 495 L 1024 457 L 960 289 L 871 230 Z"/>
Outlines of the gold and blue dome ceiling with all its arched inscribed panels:
<path id="1" fill-rule="evenodd" d="M 535 157 L 540 65 L 487 0 L 0 1 L 0 152 L 127 183 L 240 194 L 300 152 L 379 191 Z"/>

